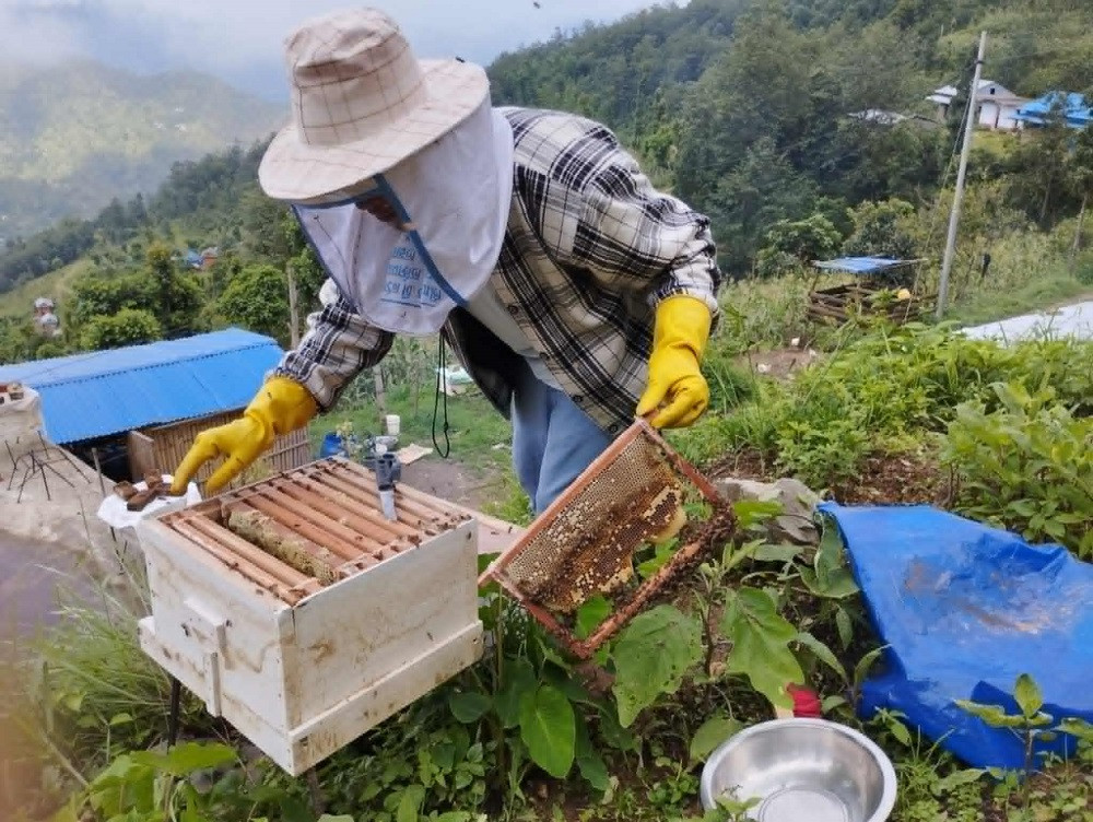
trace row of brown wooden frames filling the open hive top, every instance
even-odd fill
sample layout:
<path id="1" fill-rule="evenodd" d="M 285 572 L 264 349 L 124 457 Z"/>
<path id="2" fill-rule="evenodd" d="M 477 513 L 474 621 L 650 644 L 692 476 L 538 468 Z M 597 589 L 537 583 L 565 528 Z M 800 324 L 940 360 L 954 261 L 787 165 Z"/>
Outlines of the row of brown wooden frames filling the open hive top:
<path id="1" fill-rule="evenodd" d="M 404 485 L 395 500 L 398 518 L 389 520 L 375 474 L 331 458 L 161 521 L 233 573 L 295 604 L 468 519 Z"/>

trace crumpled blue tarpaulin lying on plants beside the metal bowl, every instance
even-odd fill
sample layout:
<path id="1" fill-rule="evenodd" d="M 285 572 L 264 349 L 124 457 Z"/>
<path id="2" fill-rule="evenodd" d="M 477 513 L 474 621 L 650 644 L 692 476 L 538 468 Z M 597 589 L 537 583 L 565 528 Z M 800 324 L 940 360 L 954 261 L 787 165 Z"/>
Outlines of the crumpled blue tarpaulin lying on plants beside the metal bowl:
<path id="1" fill-rule="evenodd" d="M 900 711 L 969 765 L 1007 768 L 1023 765 L 1021 741 L 955 700 L 1018 713 L 1010 694 L 1029 673 L 1057 721 L 1093 721 L 1093 565 L 928 506 L 819 509 L 837 524 L 889 646 L 884 673 L 863 685 L 862 716 Z M 1041 749 L 1073 743 L 1060 735 Z"/>

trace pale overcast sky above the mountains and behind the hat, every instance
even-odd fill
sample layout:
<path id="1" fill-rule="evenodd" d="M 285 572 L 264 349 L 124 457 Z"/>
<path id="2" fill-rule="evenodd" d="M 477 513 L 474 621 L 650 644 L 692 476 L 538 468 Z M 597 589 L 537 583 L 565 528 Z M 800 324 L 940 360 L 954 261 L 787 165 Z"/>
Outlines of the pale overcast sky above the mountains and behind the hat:
<path id="1" fill-rule="evenodd" d="M 538 2 L 538 8 L 536 5 Z M 0 58 L 84 56 L 140 71 L 191 68 L 265 96 L 284 93 L 281 44 L 309 16 L 351 0 L 0 0 Z M 651 0 L 371 0 L 421 57 L 487 63 L 586 20 L 607 22 Z M 685 4 L 685 0 L 678 0 Z"/>

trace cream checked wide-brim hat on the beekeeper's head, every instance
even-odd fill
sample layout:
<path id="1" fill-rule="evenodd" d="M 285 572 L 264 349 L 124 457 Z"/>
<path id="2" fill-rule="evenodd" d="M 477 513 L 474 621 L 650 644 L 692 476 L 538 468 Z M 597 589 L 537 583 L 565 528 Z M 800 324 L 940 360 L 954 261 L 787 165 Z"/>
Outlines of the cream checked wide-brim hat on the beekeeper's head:
<path id="1" fill-rule="evenodd" d="M 489 98 L 485 71 L 419 60 L 377 9 L 305 22 L 285 39 L 292 121 L 262 157 L 258 179 L 278 200 L 322 203 L 444 136 Z"/>

